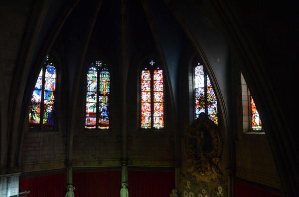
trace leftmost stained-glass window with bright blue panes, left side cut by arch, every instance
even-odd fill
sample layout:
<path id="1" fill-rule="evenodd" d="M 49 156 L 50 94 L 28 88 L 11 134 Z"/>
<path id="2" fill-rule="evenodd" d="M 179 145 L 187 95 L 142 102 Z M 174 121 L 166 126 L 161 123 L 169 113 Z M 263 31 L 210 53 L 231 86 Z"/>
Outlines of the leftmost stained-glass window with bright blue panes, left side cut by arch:
<path id="1" fill-rule="evenodd" d="M 37 77 L 29 105 L 29 127 L 52 128 L 54 125 L 56 68 L 47 55 Z"/>

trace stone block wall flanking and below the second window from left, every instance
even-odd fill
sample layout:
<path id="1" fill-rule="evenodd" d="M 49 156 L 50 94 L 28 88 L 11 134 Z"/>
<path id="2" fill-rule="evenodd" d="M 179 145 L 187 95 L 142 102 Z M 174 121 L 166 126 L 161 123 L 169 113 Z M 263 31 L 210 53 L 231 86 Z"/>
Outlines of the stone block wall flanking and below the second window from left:
<path id="1" fill-rule="evenodd" d="M 86 64 L 88 65 L 88 64 Z M 84 70 L 86 70 L 84 68 Z M 117 78 L 111 76 L 110 129 L 85 129 L 86 73 L 81 74 L 77 99 L 73 143 L 73 167 L 109 167 L 121 165 L 120 107 Z"/>

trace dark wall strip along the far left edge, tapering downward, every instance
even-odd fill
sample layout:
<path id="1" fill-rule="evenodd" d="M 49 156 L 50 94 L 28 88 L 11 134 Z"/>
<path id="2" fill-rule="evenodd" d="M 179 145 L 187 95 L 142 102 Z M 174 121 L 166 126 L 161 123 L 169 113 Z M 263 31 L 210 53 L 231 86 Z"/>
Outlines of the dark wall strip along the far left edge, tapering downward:
<path id="1" fill-rule="evenodd" d="M 9 149 L 7 112 L 13 78 L 15 74 L 18 55 L 23 43 L 23 36 L 28 24 L 28 18 L 32 11 L 32 1 L 28 2 L 1 2 L 0 12 L 0 77 L 3 79 L 1 85 L 1 158 L 0 167 L 6 167 Z"/>

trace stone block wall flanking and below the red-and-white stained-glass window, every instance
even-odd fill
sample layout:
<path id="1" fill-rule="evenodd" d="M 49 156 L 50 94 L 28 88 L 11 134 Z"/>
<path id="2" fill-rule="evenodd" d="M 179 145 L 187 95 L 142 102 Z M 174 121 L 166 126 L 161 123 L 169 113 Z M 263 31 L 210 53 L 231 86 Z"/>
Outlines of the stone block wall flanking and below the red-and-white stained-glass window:
<path id="1" fill-rule="evenodd" d="M 134 69 L 129 80 L 128 96 L 128 158 L 131 166 L 173 167 L 174 133 L 170 130 L 169 95 L 164 79 L 164 125 L 161 130 L 141 130 L 140 74 Z M 165 77 L 165 75 L 164 75 Z M 168 126 L 168 127 L 167 127 Z"/>

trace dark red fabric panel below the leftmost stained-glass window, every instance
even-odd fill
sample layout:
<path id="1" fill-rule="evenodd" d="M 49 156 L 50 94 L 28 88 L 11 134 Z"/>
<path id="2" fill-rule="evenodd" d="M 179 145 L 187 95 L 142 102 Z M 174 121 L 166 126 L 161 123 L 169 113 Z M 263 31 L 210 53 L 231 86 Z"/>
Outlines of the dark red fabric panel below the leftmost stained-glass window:
<path id="1" fill-rule="evenodd" d="M 33 178 L 20 178 L 19 191 L 28 191 L 27 197 L 64 197 L 66 193 L 66 174 L 47 175 Z"/>

